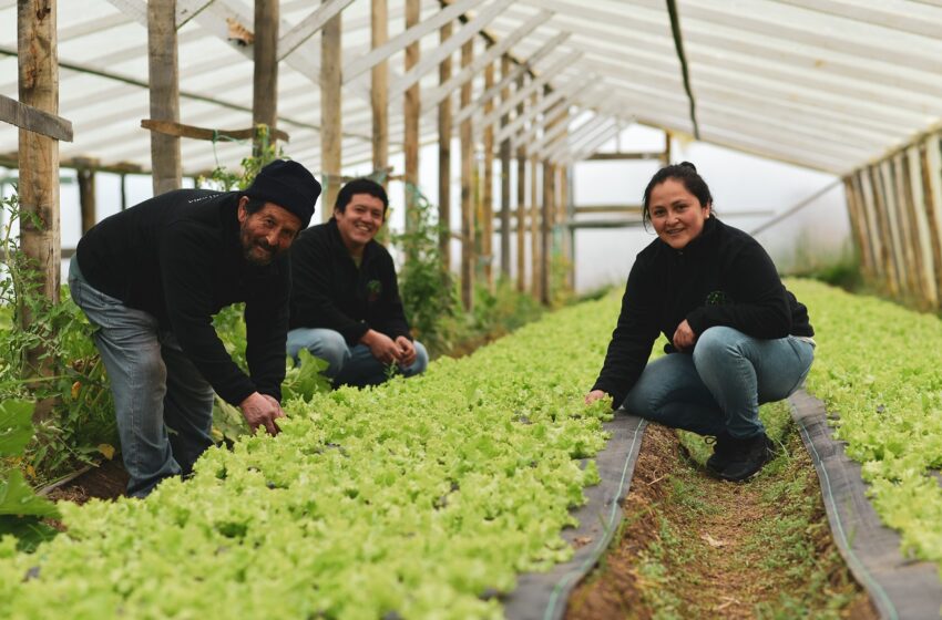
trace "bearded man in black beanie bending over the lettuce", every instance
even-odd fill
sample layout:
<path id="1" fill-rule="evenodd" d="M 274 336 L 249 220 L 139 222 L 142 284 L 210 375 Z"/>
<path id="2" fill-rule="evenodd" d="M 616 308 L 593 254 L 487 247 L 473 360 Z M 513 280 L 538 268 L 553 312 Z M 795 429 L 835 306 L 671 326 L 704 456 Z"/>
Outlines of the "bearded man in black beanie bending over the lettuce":
<path id="1" fill-rule="evenodd" d="M 245 192 L 168 192 L 102 220 L 79 241 L 69 288 L 98 328 L 127 495 L 144 497 L 163 478 L 192 471 L 213 444 L 214 390 L 253 430 L 278 432 L 286 250 L 319 195 L 304 166 L 276 161 Z M 213 329 L 213 314 L 239 301 L 250 376 Z"/>

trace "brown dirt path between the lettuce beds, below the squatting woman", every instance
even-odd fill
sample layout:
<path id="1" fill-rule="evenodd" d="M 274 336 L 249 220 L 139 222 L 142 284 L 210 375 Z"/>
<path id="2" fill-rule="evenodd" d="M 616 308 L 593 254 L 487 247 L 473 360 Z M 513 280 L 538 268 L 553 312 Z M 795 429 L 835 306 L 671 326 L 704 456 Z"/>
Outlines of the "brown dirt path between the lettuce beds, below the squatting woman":
<path id="1" fill-rule="evenodd" d="M 792 458 L 802 456 L 807 461 L 807 454 L 796 451 Z M 784 476 L 793 477 L 793 472 Z M 811 549 L 816 569 L 823 567 L 818 581 L 809 582 L 815 577 L 803 575 L 800 567 L 769 566 L 768 545 L 757 545 L 749 534 L 758 531 L 757 524 L 775 521 L 785 512 L 762 499 L 768 484 L 766 479 L 740 484 L 709 477 L 687 457 L 672 431 L 652 424 L 624 503 L 621 539 L 573 591 L 566 618 L 740 619 L 756 618 L 758 609 L 774 610 L 776 617 L 879 618 L 836 554 L 827 526 L 821 526 L 826 524 L 822 507 L 815 513 L 817 524 L 807 528 L 808 540 L 781 541 Z M 774 537 L 765 540 L 775 542 Z M 790 604 L 784 600 L 810 590 L 817 593 L 811 602 L 801 601 L 802 611 L 782 609 Z M 842 602 L 829 609 L 828 601 L 835 597 Z M 816 604 L 819 609 L 808 608 Z"/>

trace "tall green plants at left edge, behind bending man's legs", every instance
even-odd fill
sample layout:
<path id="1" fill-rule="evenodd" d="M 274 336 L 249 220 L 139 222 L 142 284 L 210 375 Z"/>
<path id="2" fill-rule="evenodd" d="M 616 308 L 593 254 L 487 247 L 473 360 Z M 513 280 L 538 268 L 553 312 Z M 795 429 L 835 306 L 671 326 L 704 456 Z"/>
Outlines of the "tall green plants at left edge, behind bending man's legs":
<path id="1" fill-rule="evenodd" d="M 2 211 L 0 400 L 35 401 L 49 411 L 19 462 L 28 477 L 48 480 L 99 457 L 99 446 L 116 443 L 111 392 L 92 327 L 68 292 L 59 301 L 42 293 L 40 269 L 20 249 L 14 227 L 27 214 L 17 196 L 2 200 Z"/>

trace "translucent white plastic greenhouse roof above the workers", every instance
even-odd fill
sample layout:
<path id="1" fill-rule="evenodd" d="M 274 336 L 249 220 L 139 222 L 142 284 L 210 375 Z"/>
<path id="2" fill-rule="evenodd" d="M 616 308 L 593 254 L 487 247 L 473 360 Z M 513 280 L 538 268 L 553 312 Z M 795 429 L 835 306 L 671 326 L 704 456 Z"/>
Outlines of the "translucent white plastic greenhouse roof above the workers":
<path id="1" fill-rule="evenodd" d="M 461 0 L 518 60 L 534 53 L 533 73 L 572 111 L 560 162 L 590 156 L 620 128 L 637 122 L 695 133 L 682 63 L 665 0 Z M 405 29 L 405 0 L 389 0 L 389 37 Z M 319 2 L 281 1 L 281 35 Z M 833 174 L 879 159 L 936 128 L 942 117 L 942 0 L 676 0 L 700 140 Z M 442 10 L 423 0 L 422 20 Z M 150 168 L 146 2 L 59 0 L 59 115 L 74 142 L 63 161 Z M 370 72 L 352 75 L 370 50 L 370 1 L 342 12 L 345 165 L 370 161 Z M 252 123 L 252 49 L 227 40 L 226 18 L 253 28 L 246 0 L 177 0 L 180 121 L 219 130 Z M 533 24 L 539 23 L 533 28 Z M 0 94 L 17 99 L 17 2 L 0 0 Z M 455 32 L 461 24 L 455 24 Z M 561 33 L 563 33 L 561 35 Z M 475 54 L 484 42 L 475 38 Z M 562 40 L 562 42 L 560 42 Z M 549 46 L 547 46 L 549 44 Z M 441 48 L 438 28 L 421 39 L 422 58 Z M 542 48 L 542 50 L 541 50 Z M 460 71 L 458 51 L 452 72 Z M 402 50 L 391 53 L 390 148 L 401 149 Z M 279 65 L 278 127 L 285 151 L 320 168 L 320 38 L 314 35 Z M 498 72 L 499 73 L 499 72 Z M 436 142 L 438 70 L 420 80 L 422 142 Z M 498 75 L 500 81 L 500 74 Z M 483 72 L 473 80 L 484 91 Z M 454 97 L 457 89 L 448 93 Z M 475 117 L 484 118 L 478 105 Z M 512 117 L 511 117 L 512 118 Z M 539 144 L 531 120 L 523 144 Z M 530 132 L 533 133 L 530 133 Z M 455 127 L 457 132 L 457 127 Z M 0 124 L 0 155 L 16 155 L 18 131 Z M 533 148 L 535 152 L 536 148 Z M 184 172 L 231 165 L 244 145 L 183 140 Z"/>

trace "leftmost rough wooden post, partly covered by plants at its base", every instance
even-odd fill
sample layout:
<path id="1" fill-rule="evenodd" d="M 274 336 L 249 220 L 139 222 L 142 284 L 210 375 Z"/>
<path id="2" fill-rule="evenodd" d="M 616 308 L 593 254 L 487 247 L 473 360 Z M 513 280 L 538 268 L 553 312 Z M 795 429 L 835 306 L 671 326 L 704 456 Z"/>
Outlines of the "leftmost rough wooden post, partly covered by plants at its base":
<path id="1" fill-rule="evenodd" d="M 17 58 L 21 103 L 50 114 L 59 113 L 59 54 L 55 0 L 20 0 L 17 8 Z M 59 302 L 61 229 L 59 221 L 59 142 L 20 130 L 19 135 L 20 249 L 38 269 L 38 292 Z M 29 329 L 33 316 L 20 309 L 20 324 Z M 24 352 L 23 376 L 50 374 L 45 351 Z M 38 403 L 35 420 L 49 415 L 51 402 Z"/>

